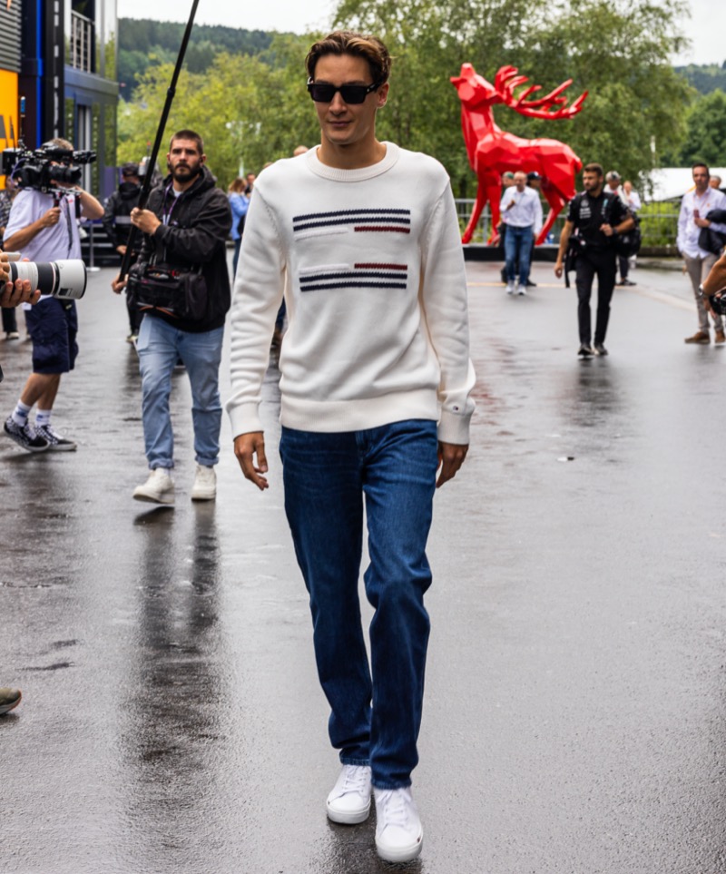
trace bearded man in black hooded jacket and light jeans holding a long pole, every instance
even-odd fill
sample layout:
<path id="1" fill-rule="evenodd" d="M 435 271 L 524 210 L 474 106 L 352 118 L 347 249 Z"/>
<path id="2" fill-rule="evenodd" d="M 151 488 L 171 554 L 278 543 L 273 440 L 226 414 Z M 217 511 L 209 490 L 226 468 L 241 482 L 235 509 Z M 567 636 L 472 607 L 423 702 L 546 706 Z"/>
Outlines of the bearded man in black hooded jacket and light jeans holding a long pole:
<path id="1" fill-rule="evenodd" d="M 131 221 L 143 232 L 139 260 L 132 276 L 164 265 L 177 276 L 201 272 L 206 292 L 203 315 L 176 316 L 145 300 L 136 349 L 142 374 L 142 420 L 151 474 L 134 489 L 139 501 L 174 503 L 173 434 L 169 413 L 172 370 L 179 358 L 191 382 L 191 416 L 197 462 L 192 501 L 213 500 L 217 492 L 214 466 L 219 460 L 221 402 L 219 368 L 224 317 L 230 309 L 226 240 L 231 229 L 230 203 L 204 166 L 207 156 L 198 133 L 172 136 L 166 156 L 170 175 L 152 191 L 148 209 L 132 210 Z M 113 290 L 125 280 L 117 278 Z M 133 285 L 133 283 L 132 283 Z M 132 292 L 133 293 L 133 292 Z"/>

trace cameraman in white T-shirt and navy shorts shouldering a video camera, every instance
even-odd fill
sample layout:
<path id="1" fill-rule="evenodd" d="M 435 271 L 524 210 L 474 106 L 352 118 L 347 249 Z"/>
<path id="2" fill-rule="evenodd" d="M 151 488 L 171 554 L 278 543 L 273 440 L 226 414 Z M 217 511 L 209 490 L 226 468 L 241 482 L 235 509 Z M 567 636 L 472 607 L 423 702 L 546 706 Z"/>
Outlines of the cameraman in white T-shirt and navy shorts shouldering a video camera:
<path id="1" fill-rule="evenodd" d="M 21 177 L 23 187 L 13 201 L 5 229 L 5 250 L 20 250 L 31 261 L 80 259 L 78 220 L 82 215 L 100 219 L 103 206 L 93 194 L 77 187 L 75 179 L 80 171 L 71 167 L 74 147 L 70 142 L 54 139 L 44 143 L 39 151 L 43 150 L 54 156 L 47 161 L 50 172 L 42 174 L 38 188 L 25 184 L 27 173 L 25 182 Z M 13 176 L 18 178 L 15 173 Z M 71 179 L 74 181 L 65 181 Z M 32 177 L 30 182 L 34 184 Z M 73 370 L 78 354 L 75 302 L 44 294 L 36 307 L 24 307 L 25 325 L 33 340 L 33 372 L 5 420 L 5 434 L 29 452 L 75 449 L 73 440 L 62 437 L 51 425 L 61 376 Z M 28 417 L 36 403 L 32 427 Z"/>

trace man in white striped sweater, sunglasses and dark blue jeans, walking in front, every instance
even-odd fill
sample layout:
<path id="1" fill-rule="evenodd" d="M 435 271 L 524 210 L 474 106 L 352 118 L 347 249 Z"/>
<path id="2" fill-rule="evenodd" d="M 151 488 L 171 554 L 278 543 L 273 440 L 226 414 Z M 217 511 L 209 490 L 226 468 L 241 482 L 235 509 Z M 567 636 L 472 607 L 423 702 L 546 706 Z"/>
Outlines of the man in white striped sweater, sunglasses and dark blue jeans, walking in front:
<path id="1" fill-rule="evenodd" d="M 446 172 L 376 138 L 385 45 L 336 32 L 306 64 L 321 142 L 256 182 L 232 302 L 227 409 L 244 476 L 267 488 L 258 408 L 284 296 L 285 509 L 342 764 L 328 816 L 363 822 L 372 792 L 378 855 L 407 861 L 423 840 L 410 785 L 429 631 L 427 534 L 435 487 L 466 457 L 474 409 L 466 274 Z M 364 502 L 370 664 L 358 602 Z"/>

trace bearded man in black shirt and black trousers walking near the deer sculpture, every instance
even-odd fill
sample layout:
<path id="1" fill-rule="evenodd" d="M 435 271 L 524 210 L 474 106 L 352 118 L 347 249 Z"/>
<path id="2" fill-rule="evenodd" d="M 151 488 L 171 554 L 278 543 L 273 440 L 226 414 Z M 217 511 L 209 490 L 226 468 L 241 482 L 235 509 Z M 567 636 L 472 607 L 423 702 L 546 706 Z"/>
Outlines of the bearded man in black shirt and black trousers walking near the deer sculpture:
<path id="1" fill-rule="evenodd" d="M 633 228 L 633 218 L 623 201 L 613 193 L 603 191 L 604 174 L 600 164 L 587 164 L 583 171 L 584 191 L 570 201 L 567 221 L 560 236 L 560 249 L 554 264 L 554 275 L 564 271 L 564 255 L 570 238 L 576 232 L 577 257 L 574 262 L 577 286 L 577 320 L 580 328 L 580 358 L 607 355 L 605 334 L 610 319 L 610 300 L 615 288 L 617 252 L 614 237 Z M 590 296 L 597 276 L 597 320 L 594 346 Z"/>

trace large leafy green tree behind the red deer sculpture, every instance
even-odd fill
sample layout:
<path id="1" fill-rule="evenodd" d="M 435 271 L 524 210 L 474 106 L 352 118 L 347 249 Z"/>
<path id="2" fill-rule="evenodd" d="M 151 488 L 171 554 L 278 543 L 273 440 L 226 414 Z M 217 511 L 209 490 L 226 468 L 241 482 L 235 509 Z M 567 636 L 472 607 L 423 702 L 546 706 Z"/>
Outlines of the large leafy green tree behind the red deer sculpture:
<path id="1" fill-rule="evenodd" d="M 680 0 L 342 0 L 336 23 L 379 34 L 397 60 L 380 131 L 443 162 L 461 196 L 476 189 L 466 167 L 459 104 L 449 82 L 463 62 L 492 81 L 505 64 L 550 90 L 589 96 L 568 122 L 524 118 L 495 108 L 495 121 L 520 136 L 568 142 L 643 185 L 662 152 L 684 133 L 688 85 L 669 58 L 682 47 Z M 388 117 L 387 117 L 388 113 Z"/>

